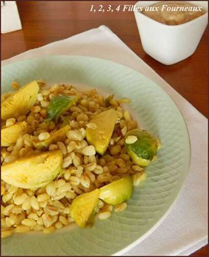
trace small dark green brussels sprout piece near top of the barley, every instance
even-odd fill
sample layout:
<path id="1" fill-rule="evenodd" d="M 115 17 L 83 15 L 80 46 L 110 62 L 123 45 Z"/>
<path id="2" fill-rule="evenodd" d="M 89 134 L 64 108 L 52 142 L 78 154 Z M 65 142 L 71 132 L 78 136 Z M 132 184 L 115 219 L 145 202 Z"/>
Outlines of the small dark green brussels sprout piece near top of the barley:
<path id="1" fill-rule="evenodd" d="M 65 96 L 59 95 L 54 97 L 49 106 L 47 107 L 47 119 L 46 122 L 50 122 L 52 119 L 58 120 L 59 116 L 68 111 L 68 109 L 78 101 L 77 96 Z"/>

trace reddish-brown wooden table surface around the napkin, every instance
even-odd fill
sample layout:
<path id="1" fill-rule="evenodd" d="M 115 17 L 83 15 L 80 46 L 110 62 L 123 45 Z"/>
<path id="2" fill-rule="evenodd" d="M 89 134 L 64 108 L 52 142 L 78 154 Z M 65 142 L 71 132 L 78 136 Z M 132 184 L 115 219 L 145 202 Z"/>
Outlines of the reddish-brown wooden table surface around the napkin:
<path id="1" fill-rule="evenodd" d="M 207 29 L 195 53 L 180 63 L 165 66 L 142 49 L 133 12 L 90 12 L 91 5 L 107 10 L 136 1 L 17 1 L 23 30 L 2 35 L 2 60 L 26 50 L 69 38 L 69 36 L 108 26 L 144 62 L 207 117 Z M 207 255 L 205 246 L 192 255 Z"/>

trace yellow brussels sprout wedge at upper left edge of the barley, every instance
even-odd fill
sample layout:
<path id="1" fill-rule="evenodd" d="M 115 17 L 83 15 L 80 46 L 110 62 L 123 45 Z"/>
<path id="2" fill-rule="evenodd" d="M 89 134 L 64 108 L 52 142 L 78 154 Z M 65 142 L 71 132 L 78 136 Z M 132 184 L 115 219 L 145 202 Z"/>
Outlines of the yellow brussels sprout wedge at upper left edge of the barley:
<path id="1" fill-rule="evenodd" d="M 7 120 L 28 114 L 37 99 L 38 90 L 38 83 L 33 81 L 6 98 L 1 105 L 2 119 Z"/>

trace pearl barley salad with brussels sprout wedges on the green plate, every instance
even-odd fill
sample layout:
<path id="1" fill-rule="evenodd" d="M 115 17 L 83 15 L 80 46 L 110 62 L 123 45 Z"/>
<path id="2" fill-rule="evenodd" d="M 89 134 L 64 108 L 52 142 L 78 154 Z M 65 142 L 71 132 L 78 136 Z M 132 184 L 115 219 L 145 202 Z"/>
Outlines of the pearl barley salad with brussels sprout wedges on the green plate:
<path id="1" fill-rule="evenodd" d="M 2 238 L 124 211 L 160 143 L 96 89 L 32 81 L 2 96 Z"/>

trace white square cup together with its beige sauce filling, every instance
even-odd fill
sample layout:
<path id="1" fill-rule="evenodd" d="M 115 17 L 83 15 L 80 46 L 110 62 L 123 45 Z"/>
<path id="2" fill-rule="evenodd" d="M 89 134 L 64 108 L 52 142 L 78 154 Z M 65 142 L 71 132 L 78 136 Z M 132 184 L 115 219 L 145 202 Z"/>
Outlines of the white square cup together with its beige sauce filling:
<path id="1" fill-rule="evenodd" d="M 207 4 L 207 1 L 137 2 L 134 14 L 144 51 L 165 65 L 172 65 L 191 56 L 207 26 Z M 153 6 L 153 11 L 145 11 L 147 6 Z M 170 10 L 168 7 L 172 6 Z M 177 6 L 183 6 L 184 9 L 174 9 Z M 189 7 L 194 6 L 202 8 L 189 11 Z M 143 10 L 140 11 L 139 7 Z"/>

